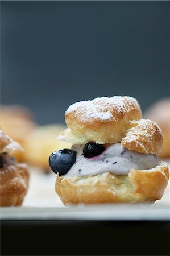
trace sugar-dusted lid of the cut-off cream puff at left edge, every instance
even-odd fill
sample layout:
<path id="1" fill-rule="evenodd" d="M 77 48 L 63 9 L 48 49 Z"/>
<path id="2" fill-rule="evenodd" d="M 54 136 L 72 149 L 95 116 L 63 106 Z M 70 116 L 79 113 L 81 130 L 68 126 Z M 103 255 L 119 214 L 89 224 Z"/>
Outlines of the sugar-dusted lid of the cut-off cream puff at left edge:
<path id="1" fill-rule="evenodd" d="M 22 146 L 0 130 L 0 154 L 23 151 Z"/>

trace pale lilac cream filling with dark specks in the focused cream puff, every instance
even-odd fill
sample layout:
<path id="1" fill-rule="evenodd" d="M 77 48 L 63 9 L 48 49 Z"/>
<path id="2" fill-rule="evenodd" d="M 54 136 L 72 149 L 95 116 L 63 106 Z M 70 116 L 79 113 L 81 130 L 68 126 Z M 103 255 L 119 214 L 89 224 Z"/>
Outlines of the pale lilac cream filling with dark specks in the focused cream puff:
<path id="1" fill-rule="evenodd" d="M 82 144 L 73 144 L 72 150 L 77 152 L 76 163 L 64 176 L 98 175 L 103 172 L 128 175 L 131 169 L 148 170 L 159 164 L 156 155 L 127 150 L 121 143 L 111 144 L 93 158 L 85 158 L 83 148 Z"/>

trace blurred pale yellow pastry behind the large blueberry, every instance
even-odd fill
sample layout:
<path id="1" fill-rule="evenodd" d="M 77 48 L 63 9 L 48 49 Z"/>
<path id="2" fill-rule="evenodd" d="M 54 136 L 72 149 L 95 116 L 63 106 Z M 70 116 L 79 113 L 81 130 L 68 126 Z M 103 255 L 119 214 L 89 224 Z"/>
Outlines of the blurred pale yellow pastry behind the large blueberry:
<path id="1" fill-rule="evenodd" d="M 27 163 L 40 168 L 40 171 L 49 172 L 48 158 L 51 151 L 59 148 L 70 148 L 72 144 L 57 141 L 57 136 L 65 129 L 63 125 L 39 126 L 28 134 L 24 142 L 24 156 Z"/>

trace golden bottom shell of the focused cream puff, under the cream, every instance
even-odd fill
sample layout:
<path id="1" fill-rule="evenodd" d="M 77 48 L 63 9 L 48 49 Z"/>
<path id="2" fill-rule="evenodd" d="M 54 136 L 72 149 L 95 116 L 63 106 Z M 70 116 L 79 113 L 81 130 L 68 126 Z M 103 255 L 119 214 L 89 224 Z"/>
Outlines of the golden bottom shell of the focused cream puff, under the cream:
<path id="1" fill-rule="evenodd" d="M 109 172 L 75 177 L 57 174 L 55 189 L 64 204 L 138 203 L 161 199 L 168 179 L 168 166 L 160 162 L 150 170 L 130 170 L 128 176 Z"/>

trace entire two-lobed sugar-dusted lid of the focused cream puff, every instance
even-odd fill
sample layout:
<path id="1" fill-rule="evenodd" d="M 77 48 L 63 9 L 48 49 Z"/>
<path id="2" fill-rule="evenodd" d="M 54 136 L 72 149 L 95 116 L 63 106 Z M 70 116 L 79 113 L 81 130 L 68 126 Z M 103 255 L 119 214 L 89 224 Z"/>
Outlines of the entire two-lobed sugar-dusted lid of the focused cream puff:
<path id="1" fill-rule="evenodd" d="M 120 142 L 144 154 L 159 154 L 163 144 L 159 126 L 142 119 L 138 101 L 129 96 L 76 102 L 65 112 L 65 122 L 68 129 L 58 139 L 74 144 Z"/>

